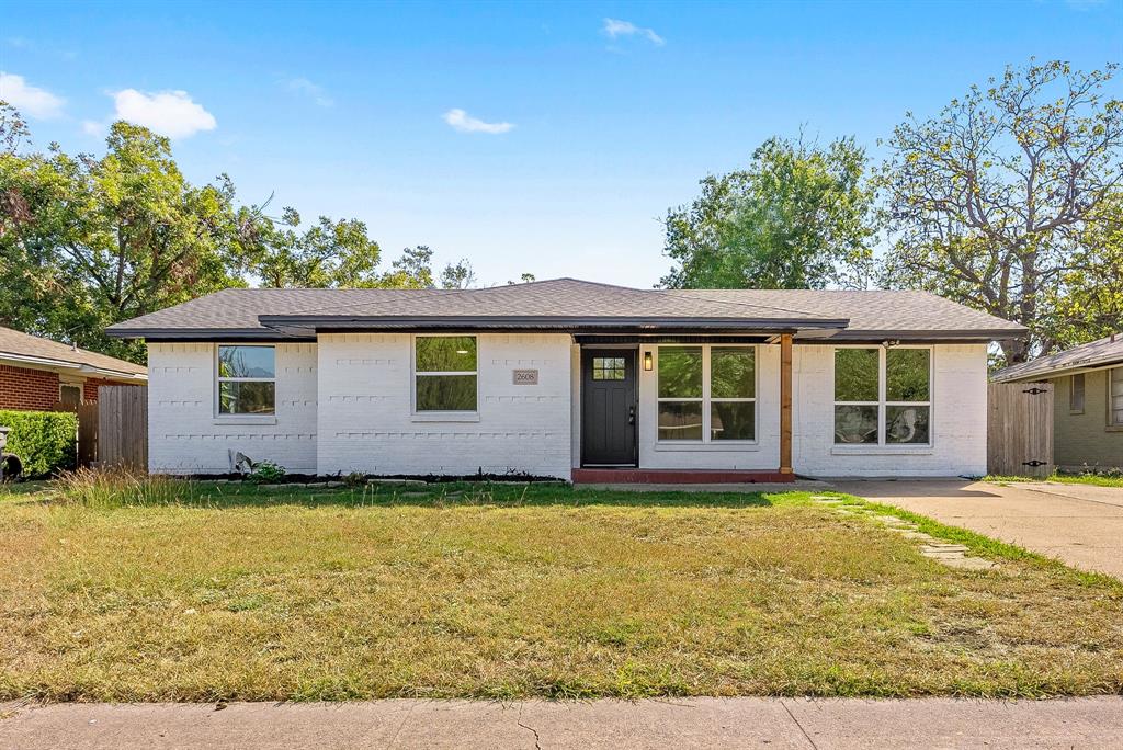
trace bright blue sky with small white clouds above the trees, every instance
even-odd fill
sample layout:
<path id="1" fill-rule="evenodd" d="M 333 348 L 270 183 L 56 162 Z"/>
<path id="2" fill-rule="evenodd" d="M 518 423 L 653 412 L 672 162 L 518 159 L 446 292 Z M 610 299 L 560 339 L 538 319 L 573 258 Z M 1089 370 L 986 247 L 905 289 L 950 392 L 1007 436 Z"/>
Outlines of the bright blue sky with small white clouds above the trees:
<path id="1" fill-rule="evenodd" d="M 1123 0 L 0 0 L 0 94 L 38 145 L 99 152 L 121 112 L 173 135 L 192 181 L 360 218 L 387 263 L 427 244 L 485 284 L 649 286 L 660 217 L 706 173 L 801 127 L 876 156 L 906 110 L 1032 55 L 1123 60 Z"/>

